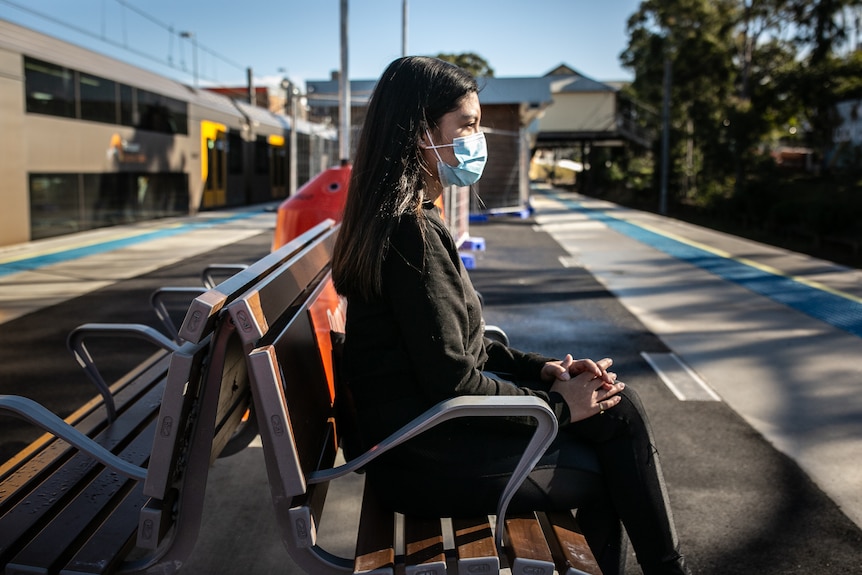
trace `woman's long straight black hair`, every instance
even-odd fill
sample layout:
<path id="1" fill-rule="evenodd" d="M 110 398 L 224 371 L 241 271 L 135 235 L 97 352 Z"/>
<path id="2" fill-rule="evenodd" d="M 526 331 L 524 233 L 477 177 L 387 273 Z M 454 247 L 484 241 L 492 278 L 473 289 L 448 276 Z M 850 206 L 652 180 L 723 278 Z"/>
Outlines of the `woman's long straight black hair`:
<path id="1" fill-rule="evenodd" d="M 404 214 L 418 214 L 424 200 L 427 167 L 419 140 L 478 91 L 467 71 L 436 58 L 399 58 L 383 72 L 368 103 L 335 244 L 338 293 L 366 300 L 380 295 L 390 234 Z"/>

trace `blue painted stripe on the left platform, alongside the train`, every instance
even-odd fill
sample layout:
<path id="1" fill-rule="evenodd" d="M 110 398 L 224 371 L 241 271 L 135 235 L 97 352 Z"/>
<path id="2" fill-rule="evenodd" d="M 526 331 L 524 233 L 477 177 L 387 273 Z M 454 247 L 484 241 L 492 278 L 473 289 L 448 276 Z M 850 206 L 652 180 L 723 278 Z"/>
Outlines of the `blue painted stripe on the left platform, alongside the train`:
<path id="1" fill-rule="evenodd" d="M 52 264 L 68 262 L 87 256 L 103 254 L 105 252 L 118 250 L 142 242 L 149 242 L 152 240 L 178 236 L 181 234 L 189 233 L 190 231 L 196 229 L 211 228 L 213 226 L 218 226 L 231 221 L 242 220 L 245 218 L 256 216 L 259 213 L 260 212 L 257 211 L 241 212 L 238 214 L 232 214 L 220 218 L 201 219 L 193 222 L 180 224 L 177 226 L 172 226 L 169 228 L 142 233 L 136 236 L 130 236 L 127 238 L 119 238 L 116 240 L 109 240 L 92 245 L 82 246 L 79 248 L 60 250 L 49 254 L 34 256 L 32 258 L 24 258 L 14 262 L 0 264 L 0 277 L 23 271 L 32 271 Z"/>

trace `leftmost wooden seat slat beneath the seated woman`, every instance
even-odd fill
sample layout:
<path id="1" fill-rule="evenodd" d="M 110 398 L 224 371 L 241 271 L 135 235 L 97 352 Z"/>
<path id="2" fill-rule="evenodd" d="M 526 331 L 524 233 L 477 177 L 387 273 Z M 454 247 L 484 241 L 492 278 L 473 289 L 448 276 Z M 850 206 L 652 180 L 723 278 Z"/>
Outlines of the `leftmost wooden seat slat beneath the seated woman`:
<path id="1" fill-rule="evenodd" d="M 392 575 L 395 569 L 395 516 L 384 511 L 366 485 L 360 510 L 362 521 L 356 536 L 353 572 Z"/>

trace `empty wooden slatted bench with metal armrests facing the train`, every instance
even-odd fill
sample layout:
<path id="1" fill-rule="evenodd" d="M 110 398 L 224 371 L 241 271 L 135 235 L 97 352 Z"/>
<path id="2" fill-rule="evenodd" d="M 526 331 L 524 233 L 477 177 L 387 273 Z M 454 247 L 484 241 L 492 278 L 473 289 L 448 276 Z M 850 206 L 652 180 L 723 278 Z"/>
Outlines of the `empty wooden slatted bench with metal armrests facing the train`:
<path id="1" fill-rule="evenodd" d="M 70 348 L 99 396 L 65 420 L 32 400 L 0 396 L 0 411 L 47 431 L 0 468 L 4 573 L 167 574 L 182 566 L 212 460 L 254 435 L 245 423 L 256 421 L 248 419 L 252 340 L 237 336 L 230 305 L 275 272 L 294 277 L 302 293 L 303 278 L 328 263 L 311 246 L 332 237 L 325 222 L 198 296 L 178 341 L 132 325 L 75 330 Z M 85 341 L 121 334 L 163 349 L 109 386 Z"/>

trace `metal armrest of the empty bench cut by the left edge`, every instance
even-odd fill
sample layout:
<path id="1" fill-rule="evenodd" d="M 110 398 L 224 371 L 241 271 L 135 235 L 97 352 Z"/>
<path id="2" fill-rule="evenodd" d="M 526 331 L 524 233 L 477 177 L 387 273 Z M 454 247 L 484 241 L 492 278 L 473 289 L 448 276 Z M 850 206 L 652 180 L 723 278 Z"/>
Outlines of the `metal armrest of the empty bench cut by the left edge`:
<path id="1" fill-rule="evenodd" d="M 62 439 L 69 445 L 104 463 L 117 473 L 137 480 L 143 480 L 147 477 L 145 468 L 120 459 L 32 399 L 17 395 L 0 395 L 0 410 L 11 411 L 13 414 L 41 427 L 54 437 Z"/>

